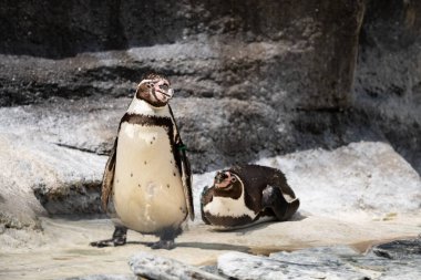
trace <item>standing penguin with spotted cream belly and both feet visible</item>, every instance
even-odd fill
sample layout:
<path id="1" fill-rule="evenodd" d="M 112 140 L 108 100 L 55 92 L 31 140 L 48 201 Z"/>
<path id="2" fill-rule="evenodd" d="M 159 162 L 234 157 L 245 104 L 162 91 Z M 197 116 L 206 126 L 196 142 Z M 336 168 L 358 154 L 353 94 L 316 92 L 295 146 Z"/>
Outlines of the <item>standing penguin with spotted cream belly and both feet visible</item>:
<path id="1" fill-rule="evenodd" d="M 170 105 L 167 79 L 147 75 L 119 126 L 102 183 L 102 208 L 112 218 L 111 239 L 91 246 L 121 246 L 127 229 L 155 235 L 152 248 L 171 249 L 187 215 L 194 219 L 192 173 Z"/>

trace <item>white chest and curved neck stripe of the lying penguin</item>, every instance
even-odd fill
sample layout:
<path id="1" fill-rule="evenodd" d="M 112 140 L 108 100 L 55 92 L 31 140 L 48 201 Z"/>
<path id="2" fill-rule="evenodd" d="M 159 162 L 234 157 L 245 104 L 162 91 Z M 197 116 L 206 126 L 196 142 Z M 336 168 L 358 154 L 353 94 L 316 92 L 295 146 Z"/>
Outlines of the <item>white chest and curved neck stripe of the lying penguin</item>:
<path id="1" fill-rule="evenodd" d="M 230 197 L 214 197 L 213 200 L 204 207 L 204 210 L 213 216 L 218 217 L 242 217 L 248 216 L 256 218 L 257 214 L 248 209 L 244 200 L 244 185 L 239 177 L 233 174 L 242 183 L 242 196 L 238 199 Z"/>

